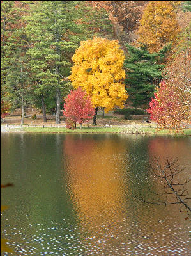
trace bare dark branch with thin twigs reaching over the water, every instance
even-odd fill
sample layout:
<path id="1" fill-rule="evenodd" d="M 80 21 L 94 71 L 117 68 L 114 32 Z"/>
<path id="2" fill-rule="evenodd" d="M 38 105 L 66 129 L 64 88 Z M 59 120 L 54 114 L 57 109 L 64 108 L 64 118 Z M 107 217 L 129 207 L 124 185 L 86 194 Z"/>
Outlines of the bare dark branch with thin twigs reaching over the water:
<path id="1" fill-rule="evenodd" d="M 191 200 L 191 198 L 188 196 L 187 188 L 185 188 L 185 185 L 188 184 L 190 180 L 181 182 L 178 177 L 183 171 L 184 169 L 180 168 L 178 164 L 178 157 L 169 158 L 167 155 L 162 161 L 154 157 L 150 165 L 150 172 L 151 175 L 159 181 L 159 192 L 152 193 L 158 197 L 151 198 L 150 200 L 146 200 L 142 195 L 136 197 L 142 202 L 153 205 L 180 204 L 180 212 L 182 211 L 181 208 L 184 207 L 187 214 L 191 214 L 191 209 L 188 205 L 188 200 Z"/>

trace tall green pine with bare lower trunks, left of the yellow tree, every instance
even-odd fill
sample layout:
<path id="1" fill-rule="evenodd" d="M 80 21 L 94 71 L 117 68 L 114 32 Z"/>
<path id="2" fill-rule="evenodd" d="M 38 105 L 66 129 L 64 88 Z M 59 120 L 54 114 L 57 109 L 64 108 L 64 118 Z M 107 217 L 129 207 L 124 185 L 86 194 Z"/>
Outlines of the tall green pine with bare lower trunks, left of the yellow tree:
<path id="1" fill-rule="evenodd" d="M 34 1 L 27 16 L 27 36 L 33 47 L 27 51 L 36 81 L 36 93 L 43 97 L 49 91 L 56 95 L 56 124 L 60 123 L 61 93 L 68 93 L 65 81 L 70 73 L 72 54 L 80 42 L 82 27 L 75 22 L 75 1 Z M 50 11 L 51 10 L 51 11 Z M 44 117 L 45 118 L 45 117 Z"/>

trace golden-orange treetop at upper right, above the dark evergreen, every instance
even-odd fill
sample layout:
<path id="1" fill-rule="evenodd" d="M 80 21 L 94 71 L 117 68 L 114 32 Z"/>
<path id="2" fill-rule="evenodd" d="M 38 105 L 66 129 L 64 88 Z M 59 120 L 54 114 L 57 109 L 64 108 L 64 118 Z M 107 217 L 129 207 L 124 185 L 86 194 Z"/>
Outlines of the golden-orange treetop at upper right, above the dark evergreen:
<path id="1" fill-rule="evenodd" d="M 180 32 L 176 19 L 176 9 L 181 1 L 149 1 L 138 30 L 138 45 L 146 45 L 148 50 L 158 52 L 165 44 L 176 44 Z"/>

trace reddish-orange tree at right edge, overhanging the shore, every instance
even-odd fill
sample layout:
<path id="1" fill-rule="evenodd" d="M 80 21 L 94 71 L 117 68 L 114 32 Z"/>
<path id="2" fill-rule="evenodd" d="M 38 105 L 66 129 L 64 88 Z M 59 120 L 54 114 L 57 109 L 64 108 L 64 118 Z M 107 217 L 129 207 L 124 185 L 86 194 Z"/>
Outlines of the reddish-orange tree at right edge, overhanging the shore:
<path id="1" fill-rule="evenodd" d="M 182 131 L 190 123 L 190 51 L 180 52 L 167 65 L 163 81 L 150 102 L 148 113 L 160 128 Z"/>

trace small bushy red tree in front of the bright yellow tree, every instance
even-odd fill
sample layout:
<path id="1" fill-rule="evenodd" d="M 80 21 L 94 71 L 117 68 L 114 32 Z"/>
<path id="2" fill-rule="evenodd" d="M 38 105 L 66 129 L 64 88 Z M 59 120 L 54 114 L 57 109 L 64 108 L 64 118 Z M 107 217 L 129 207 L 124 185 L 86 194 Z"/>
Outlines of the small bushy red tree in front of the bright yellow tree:
<path id="1" fill-rule="evenodd" d="M 72 123 L 79 123 L 80 128 L 82 122 L 91 119 L 95 113 L 95 109 L 91 103 L 91 98 L 86 95 L 80 87 L 76 90 L 71 90 L 66 96 L 63 109 L 63 115 L 66 116 L 66 128 L 72 128 Z"/>

